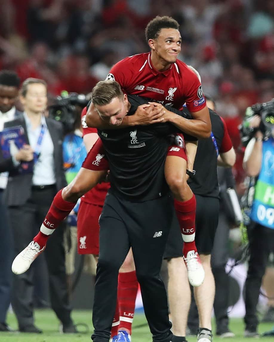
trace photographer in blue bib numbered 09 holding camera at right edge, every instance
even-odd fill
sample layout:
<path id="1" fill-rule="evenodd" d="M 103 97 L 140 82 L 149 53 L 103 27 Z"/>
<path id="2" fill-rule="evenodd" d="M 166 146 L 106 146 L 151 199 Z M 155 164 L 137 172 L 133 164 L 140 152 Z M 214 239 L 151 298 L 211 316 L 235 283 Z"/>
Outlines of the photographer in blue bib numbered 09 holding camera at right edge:
<path id="1" fill-rule="evenodd" d="M 247 141 L 243 166 L 254 180 L 254 186 L 248 195 L 250 259 L 246 279 L 245 337 L 259 337 L 256 306 L 269 254 L 274 251 L 274 99 L 247 109 L 242 124 L 242 142 Z"/>

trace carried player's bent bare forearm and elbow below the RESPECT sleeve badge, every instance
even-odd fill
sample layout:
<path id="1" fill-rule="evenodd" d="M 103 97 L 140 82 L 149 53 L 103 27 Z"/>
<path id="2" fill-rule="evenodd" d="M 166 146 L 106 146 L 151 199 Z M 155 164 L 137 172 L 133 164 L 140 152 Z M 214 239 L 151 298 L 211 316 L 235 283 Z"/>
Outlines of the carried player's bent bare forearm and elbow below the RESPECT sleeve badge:
<path id="1" fill-rule="evenodd" d="M 196 136 L 198 139 L 206 139 L 211 133 L 211 121 L 208 107 L 190 113 L 192 120 L 185 119 L 182 116 L 172 113 L 169 115 L 169 122 L 179 128 L 181 131 Z"/>

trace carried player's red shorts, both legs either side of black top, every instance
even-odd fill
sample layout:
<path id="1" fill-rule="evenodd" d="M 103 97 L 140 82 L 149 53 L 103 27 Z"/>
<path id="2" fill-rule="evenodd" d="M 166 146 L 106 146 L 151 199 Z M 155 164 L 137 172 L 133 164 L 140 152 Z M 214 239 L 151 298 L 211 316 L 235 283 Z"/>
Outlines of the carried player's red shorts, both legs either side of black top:
<path id="1" fill-rule="evenodd" d="M 174 136 L 174 143 L 173 145 L 169 146 L 167 156 L 177 156 L 187 161 L 183 134 L 176 133 Z M 87 154 L 86 159 L 82 164 L 82 168 L 92 171 L 109 170 L 109 162 L 105 157 L 104 146 L 100 138 L 96 141 Z"/>

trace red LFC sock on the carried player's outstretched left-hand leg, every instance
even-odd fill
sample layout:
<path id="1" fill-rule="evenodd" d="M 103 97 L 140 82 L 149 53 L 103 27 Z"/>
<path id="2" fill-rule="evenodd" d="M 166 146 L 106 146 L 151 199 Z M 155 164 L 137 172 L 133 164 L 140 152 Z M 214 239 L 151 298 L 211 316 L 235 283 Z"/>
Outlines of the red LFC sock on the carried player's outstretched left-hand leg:
<path id="1" fill-rule="evenodd" d="M 75 207 L 76 202 L 67 202 L 62 198 L 62 190 L 53 198 L 49 211 L 43 221 L 40 232 L 34 237 L 34 241 L 38 243 L 40 248 L 46 246 L 50 235 L 55 231 L 59 224 L 66 218 L 67 215 Z"/>

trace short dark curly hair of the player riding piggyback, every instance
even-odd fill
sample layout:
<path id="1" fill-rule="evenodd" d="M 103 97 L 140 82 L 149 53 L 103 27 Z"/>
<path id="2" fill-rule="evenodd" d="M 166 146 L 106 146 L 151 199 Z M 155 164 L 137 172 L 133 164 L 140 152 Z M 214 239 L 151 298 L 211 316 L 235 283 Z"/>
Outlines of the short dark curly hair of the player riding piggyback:
<path id="1" fill-rule="evenodd" d="M 157 15 L 154 19 L 152 19 L 146 27 L 146 40 L 149 39 L 157 39 L 159 33 L 162 28 L 174 28 L 175 30 L 179 29 L 178 22 L 172 17 L 168 17 L 167 15 L 160 17 Z"/>

